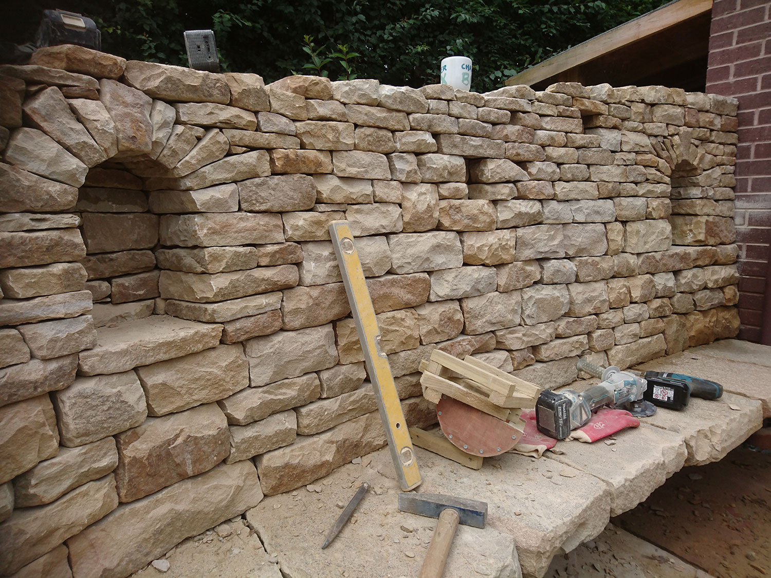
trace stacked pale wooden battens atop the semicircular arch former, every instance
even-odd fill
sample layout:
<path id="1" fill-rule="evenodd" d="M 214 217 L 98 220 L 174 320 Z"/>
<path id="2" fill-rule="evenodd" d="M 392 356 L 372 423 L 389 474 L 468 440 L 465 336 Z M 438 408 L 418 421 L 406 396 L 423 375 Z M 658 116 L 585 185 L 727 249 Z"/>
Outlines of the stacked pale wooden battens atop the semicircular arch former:
<path id="1" fill-rule="evenodd" d="M 423 397 L 439 403 L 442 395 L 524 428 L 522 410 L 534 408 L 541 388 L 466 355 L 463 360 L 435 349 L 420 365 Z"/>

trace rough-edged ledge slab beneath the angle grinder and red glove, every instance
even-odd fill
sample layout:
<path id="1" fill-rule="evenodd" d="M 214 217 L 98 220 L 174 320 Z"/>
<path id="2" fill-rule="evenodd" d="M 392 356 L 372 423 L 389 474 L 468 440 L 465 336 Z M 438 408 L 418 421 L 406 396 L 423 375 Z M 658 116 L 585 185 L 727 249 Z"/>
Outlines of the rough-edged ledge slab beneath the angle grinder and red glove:
<path id="1" fill-rule="evenodd" d="M 688 455 L 681 433 L 650 425 L 627 428 L 610 437 L 612 440 L 594 443 L 561 442 L 555 446 L 560 454 L 548 452 L 544 457 L 605 482 L 611 493 L 611 516 L 644 502 L 653 490 L 682 468 Z"/>

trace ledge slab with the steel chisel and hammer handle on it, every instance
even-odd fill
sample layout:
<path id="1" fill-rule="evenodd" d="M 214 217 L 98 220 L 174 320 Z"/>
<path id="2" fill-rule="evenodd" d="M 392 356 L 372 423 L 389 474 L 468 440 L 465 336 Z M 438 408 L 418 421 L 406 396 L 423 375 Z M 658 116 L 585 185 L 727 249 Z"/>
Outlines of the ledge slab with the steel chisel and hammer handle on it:
<path id="1" fill-rule="evenodd" d="M 399 512 L 398 482 L 373 467 L 384 452 L 390 465 L 388 450 L 381 450 L 360 464 L 342 465 L 310 486 L 270 496 L 247 510 L 247 522 L 267 552 L 278 556 L 284 576 L 418 575 L 436 519 Z M 338 505 L 347 504 L 364 481 L 372 489 L 356 508 L 355 518 L 322 550 L 326 533 L 342 512 Z M 287 523 L 288 516 L 302 516 L 302 523 Z M 458 526 L 444 576 L 522 576 L 513 537 L 489 522 L 483 529 Z"/>

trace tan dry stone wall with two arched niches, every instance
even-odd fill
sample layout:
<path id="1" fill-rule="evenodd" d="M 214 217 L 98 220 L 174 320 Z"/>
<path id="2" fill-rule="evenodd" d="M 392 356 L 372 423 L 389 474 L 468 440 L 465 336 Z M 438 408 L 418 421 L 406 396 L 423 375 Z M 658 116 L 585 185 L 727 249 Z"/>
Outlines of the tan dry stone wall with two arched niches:
<path id="1" fill-rule="evenodd" d="M 126 576 L 385 444 L 332 220 L 413 424 L 434 348 L 554 387 L 739 327 L 734 99 L 78 47 L 0 86 L 3 576 Z"/>

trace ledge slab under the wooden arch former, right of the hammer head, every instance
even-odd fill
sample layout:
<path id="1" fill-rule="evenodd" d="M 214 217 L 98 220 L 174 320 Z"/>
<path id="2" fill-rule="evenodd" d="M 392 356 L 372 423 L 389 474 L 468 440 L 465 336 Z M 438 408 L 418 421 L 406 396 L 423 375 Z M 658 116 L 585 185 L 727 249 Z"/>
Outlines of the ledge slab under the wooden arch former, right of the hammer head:
<path id="1" fill-rule="evenodd" d="M 398 489 L 388 449 L 370 456 L 370 467 L 394 479 Z M 423 477 L 419 492 L 487 502 L 486 530 L 513 536 L 524 576 L 543 576 L 555 554 L 597 536 L 610 519 L 608 486 L 554 460 L 507 453 L 487 458 L 482 469 L 471 470 L 419 448 L 416 459 Z M 457 552 L 454 544 L 453 551 Z"/>

